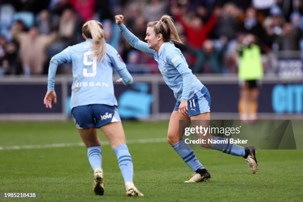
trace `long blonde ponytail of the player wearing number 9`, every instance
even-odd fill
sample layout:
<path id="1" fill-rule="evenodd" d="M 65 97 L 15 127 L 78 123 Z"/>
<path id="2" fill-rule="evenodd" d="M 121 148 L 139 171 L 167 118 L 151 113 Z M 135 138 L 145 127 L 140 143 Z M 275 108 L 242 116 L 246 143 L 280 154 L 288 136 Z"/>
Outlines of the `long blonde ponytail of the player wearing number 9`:
<path id="1" fill-rule="evenodd" d="M 94 57 L 102 60 L 106 51 L 103 25 L 97 20 L 90 20 L 83 25 L 82 32 L 87 38 L 93 39 L 92 50 Z"/>

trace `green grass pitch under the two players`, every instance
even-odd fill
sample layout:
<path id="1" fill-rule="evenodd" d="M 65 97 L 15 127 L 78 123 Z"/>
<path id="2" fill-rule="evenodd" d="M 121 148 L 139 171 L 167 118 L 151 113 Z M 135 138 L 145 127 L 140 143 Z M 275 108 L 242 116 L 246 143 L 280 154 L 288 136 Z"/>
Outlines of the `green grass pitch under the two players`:
<path id="1" fill-rule="evenodd" d="M 166 138 L 167 122 L 124 122 L 127 140 Z M 105 141 L 101 131 L 99 136 Z M 72 122 L 0 122 L 0 147 L 78 143 Z M 4 193 L 37 193 L 26 201 L 144 202 L 301 202 L 303 150 L 258 150 L 258 171 L 244 158 L 212 150 L 195 150 L 211 174 L 210 182 L 186 184 L 191 169 L 166 142 L 128 145 L 134 182 L 145 195 L 128 198 L 117 159 L 102 146 L 104 196 L 93 192 L 93 171 L 84 146 L 0 150 L 0 201 Z"/>

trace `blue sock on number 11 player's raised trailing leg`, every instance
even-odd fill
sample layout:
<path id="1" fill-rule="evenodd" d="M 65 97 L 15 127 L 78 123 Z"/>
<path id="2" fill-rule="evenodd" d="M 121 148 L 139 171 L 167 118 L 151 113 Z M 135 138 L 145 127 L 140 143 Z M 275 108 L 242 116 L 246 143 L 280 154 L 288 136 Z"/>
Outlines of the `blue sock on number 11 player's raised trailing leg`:
<path id="1" fill-rule="evenodd" d="M 213 137 L 213 141 L 223 141 L 227 140 L 228 143 L 219 143 L 219 144 L 212 144 L 211 149 L 222 151 L 224 153 L 237 155 L 237 156 L 245 156 L 245 148 L 236 144 L 230 144 L 228 139 L 221 138 L 221 137 Z"/>

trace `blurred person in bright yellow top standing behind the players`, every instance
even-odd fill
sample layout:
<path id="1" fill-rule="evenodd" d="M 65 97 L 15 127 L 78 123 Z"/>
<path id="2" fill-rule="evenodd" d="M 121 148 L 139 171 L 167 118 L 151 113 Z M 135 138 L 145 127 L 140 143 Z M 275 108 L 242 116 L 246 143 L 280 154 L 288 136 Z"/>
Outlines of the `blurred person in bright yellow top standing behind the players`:
<path id="1" fill-rule="evenodd" d="M 240 100 L 238 103 L 240 119 L 243 121 L 256 121 L 259 81 L 263 77 L 261 61 L 261 50 L 255 44 L 255 37 L 252 34 L 240 37 L 239 53 L 239 80 Z"/>

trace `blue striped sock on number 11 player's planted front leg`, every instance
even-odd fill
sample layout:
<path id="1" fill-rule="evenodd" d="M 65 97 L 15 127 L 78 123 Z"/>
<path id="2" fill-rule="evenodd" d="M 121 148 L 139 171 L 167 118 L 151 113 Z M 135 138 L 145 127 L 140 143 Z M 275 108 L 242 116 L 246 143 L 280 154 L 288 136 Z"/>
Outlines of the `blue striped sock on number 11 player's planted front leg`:
<path id="1" fill-rule="evenodd" d="M 184 162 L 186 162 L 187 165 L 192 168 L 194 172 L 196 172 L 199 168 L 204 169 L 204 167 L 196 157 L 194 151 L 184 142 L 184 140 L 180 140 L 172 147 L 182 157 Z"/>

